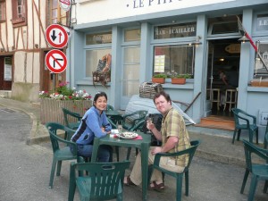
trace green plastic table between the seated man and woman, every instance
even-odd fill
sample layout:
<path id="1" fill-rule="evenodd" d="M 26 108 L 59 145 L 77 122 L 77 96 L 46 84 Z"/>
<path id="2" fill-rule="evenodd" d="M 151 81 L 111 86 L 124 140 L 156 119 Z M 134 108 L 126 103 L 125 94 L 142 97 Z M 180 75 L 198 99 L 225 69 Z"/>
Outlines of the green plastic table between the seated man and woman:
<path id="1" fill-rule="evenodd" d="M 94 138 L 93 152 L 91 162 L 96 162 L 97 149 L 100 145 L 110 145 L 118 147 L 137 147 L 141 154 L 141 172 L 142 172 L 142 200 L 147 200 L 147 178 L 148 178 L 148 151 L 151 143 L 151 135 L 137 132 L 142 139 L 123 139 L 111 138 L 110 135 L 104 138 Z"/>

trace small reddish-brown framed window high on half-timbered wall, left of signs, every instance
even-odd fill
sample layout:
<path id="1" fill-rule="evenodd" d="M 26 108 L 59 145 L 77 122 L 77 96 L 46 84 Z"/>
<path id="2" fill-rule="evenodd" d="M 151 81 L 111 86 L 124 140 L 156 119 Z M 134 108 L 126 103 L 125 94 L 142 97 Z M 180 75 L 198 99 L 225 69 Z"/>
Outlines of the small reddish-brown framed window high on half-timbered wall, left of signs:
<path id="1" fill-rule="evenodd" d="M 13 5 L 13 26 L 24 26 L 27 22 L 27 0 L 12 0 Z"/>

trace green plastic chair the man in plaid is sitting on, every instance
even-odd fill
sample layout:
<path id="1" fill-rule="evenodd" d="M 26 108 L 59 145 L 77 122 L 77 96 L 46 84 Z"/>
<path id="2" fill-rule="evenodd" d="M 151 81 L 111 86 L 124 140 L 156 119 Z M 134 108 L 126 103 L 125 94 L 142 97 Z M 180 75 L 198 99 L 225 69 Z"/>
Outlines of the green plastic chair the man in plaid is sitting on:
<path id="1" fill-rule="evenodd" d="M 180 201 L 181 200 L 181 191 L 182 191 L 182 179 L 183 179 L 183 175 L 185 174 L 185 195 L 188 196 L 188 169 L 190 166 L 190 163 L 196 153 L 197 147 L 200 144 L 199 140 L 194 140 L 190 142 L 191 147 L 180 151 L 180 152 L 176 152 L 176 153 L 157 153 L 155 155 L 155 161 L 154 164 L 151 165 L 151 167 L 149 168 L 149 180 L 148 183 L 150 181 L 150 178 L 152 176 L 152 172 L 154 171 L 154 169 L 161 171 L 163 173 L 169 174 L 170 176 L 176 178 L 176 185 L 177 185 L 177 193 L 176 193 L 176 200 Z M 160 163 L 160 158 L 161 157 L 177 157 L 179 155 L 188 155 L 188 164 L 185 167 L 183 172 L 171 172 L 168 170 L 163 169 L 162 167 L 159 166 Z"/>

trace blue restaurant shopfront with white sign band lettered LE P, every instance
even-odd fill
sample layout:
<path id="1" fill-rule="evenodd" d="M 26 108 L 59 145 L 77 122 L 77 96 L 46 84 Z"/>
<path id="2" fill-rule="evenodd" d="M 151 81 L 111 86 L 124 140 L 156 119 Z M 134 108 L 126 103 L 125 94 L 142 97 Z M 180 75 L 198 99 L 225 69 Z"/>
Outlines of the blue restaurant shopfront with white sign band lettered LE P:
<path id="1" fill-rule="evenodd" d="M 266 0 L 76 1 L 71 5 L 66 78 L 71 87 L 86 89 L 92 95 L 105 91 L 109 104 L 124 110 L 130 97 L 138 94 L 139 85 L 151 81 L 155 74 L 190 74 L 185 85 L 166 79 L 163 89 L 182 108 L 201 92 L 187 112 L 199 122 L 218 110 L 209 89 L 222 91 L 220 72 L 232 73 L 236 67 L 236 106 L 257 116 L 262 141 L 268 88 L 250 83 L 268 79 L 267 8 Z M 244 35 L 242 29 L 257 51 L 250 41 L 239 40 Z M 105 87 L 94 85 L 92 71 L 106 54 L 112 55 L 111 81 Z"/>

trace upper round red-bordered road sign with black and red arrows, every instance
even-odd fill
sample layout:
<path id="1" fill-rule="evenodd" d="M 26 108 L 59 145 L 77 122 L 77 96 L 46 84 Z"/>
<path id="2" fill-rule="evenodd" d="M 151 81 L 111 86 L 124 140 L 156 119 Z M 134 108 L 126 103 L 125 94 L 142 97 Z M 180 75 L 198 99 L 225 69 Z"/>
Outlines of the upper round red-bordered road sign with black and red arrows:
<path id="1" fill-rule="evenodd" d="M 59 24 L 51 24 L 46 28 L 46 41 L 54 48 L 63 48 L 67 45 L 68 34 Z"/>

